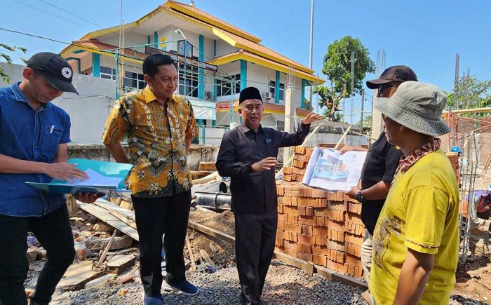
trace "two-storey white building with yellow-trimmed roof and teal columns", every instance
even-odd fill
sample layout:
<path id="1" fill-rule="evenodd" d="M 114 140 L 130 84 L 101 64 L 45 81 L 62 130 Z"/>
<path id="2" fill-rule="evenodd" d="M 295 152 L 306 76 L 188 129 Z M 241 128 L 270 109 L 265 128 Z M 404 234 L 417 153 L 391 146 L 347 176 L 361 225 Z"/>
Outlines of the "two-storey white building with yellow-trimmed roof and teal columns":
<path id="1" fill-rule="evenodd" d="M 238 93 L 247 86 L 263 95 L 266 126 L 283 129 L 283 99 L 292 76 L 297 116 L 311 111 L 305 88 L 323 83 L 314 72 L 260 44 L 261 39 L 198 8 L 169 0 L 135 22 L 123 25 L 123 65 L 116 69 L 120 27 L 90 32 L 62 50 L 75 72 L 116 80 L 124 73 L 124 90 L 144 88 L 142 60 L 162 52 L 179 62 L 179 93 L 194 105 L 202 126 L 237 122 Z M 180 29 L 177 30 L 177 29 Z M 122 67 L 122 69 L 121 69 Z M 233 110 L 231 103 L 234 103 Z"/>

